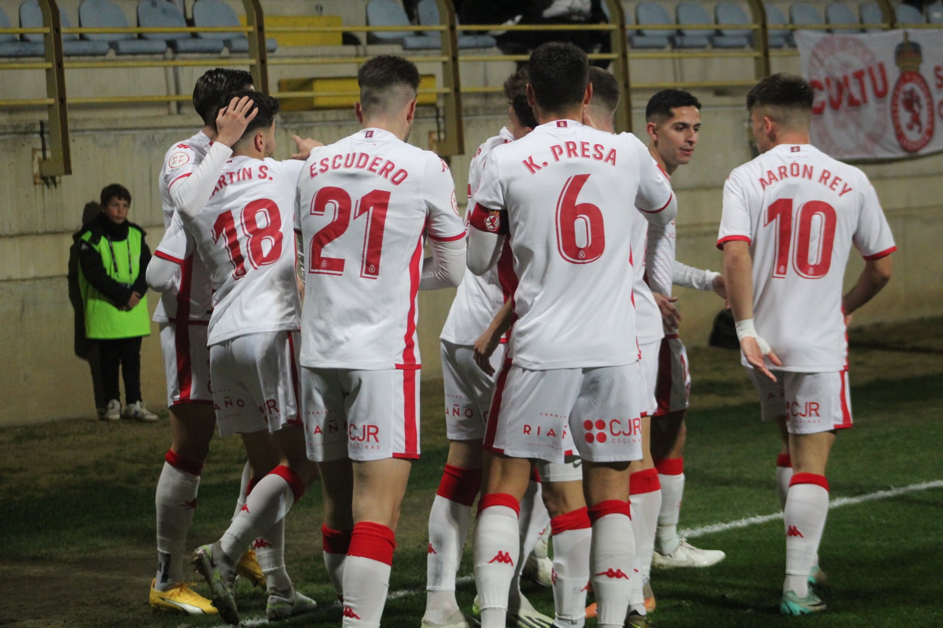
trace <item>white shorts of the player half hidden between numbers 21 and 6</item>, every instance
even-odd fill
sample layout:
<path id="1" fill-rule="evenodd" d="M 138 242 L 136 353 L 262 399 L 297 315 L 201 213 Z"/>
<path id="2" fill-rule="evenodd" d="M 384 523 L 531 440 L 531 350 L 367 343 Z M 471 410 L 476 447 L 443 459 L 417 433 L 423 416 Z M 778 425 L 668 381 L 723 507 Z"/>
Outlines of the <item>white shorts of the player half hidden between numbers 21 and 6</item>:
<path id="1" fill-rule="evenodd" d="M 445 434 L 450 441 L 485 438 L 494 380 L 505 362 L 506 347 L 502 343 L 495 349 L 490 360 L 494 375 L 488 375 L 474 362 L 471 346 L 439 342 L 445 384 Z"/>

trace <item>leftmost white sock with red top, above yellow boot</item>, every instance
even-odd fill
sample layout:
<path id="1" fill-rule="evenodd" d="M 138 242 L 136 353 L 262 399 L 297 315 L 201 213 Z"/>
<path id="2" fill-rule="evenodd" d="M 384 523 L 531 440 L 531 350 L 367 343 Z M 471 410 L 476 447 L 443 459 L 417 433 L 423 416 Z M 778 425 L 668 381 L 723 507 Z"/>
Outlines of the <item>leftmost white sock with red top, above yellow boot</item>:
<path id="1" fill-rule="evenodd" d="M 202 464 L 188 463 L 173 452 L 167 452 L 157 479 L 157 491 L 154 505 L 157 509 L 157 576 L 154 588 L 165 591 L 183 581 L 183 558 L 187 545 L 187 532 L 196 512 L 196 492 L 200 488 L 200 469 Z M 182 469 L 187 466 L 193 475 Z"/>

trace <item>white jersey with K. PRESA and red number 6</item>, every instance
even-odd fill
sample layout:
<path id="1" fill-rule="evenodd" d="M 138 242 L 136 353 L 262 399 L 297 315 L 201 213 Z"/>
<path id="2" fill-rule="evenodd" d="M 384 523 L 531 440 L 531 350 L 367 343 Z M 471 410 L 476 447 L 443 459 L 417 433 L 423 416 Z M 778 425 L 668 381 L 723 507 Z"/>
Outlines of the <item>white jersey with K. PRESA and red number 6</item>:
<path id="1" fill-rule="evenodd" d="M 638 360 L 632 303 L 635 215 L 662 214 L 665 176 L 631 134 L 576 121 L 541 124 L 498 146 L 485 164 L 470 224 L 507 233 L 518 285 L 509 343 L 528 369 L 616 366 Z"/>

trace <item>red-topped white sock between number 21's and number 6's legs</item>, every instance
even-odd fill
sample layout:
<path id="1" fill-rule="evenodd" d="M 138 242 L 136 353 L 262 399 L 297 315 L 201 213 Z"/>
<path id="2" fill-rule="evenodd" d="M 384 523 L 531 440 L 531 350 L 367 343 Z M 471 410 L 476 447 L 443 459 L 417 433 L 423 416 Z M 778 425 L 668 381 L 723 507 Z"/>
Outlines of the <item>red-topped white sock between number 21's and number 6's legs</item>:
<path id="1" fill-rule="evenodd" d="M 455 574 L 472 521 L 472 503 L 481 488 L 481 469 L 445 465 L 429 511 L 425 559 L 426 620 L 443 623 L 458 610 Z"/>

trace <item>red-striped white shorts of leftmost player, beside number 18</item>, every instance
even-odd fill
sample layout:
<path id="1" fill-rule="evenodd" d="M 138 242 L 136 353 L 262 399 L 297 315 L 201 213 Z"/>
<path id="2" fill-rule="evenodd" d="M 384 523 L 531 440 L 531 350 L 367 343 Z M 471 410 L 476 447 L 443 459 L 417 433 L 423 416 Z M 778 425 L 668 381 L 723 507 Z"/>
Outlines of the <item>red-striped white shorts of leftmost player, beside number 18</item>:
<path id="1" fill-rule="evenodd" d="M 167 377 L 167 407 L 213 403 L 209 384 L 207 323 L 160 323 L 160 352 Z"/>

